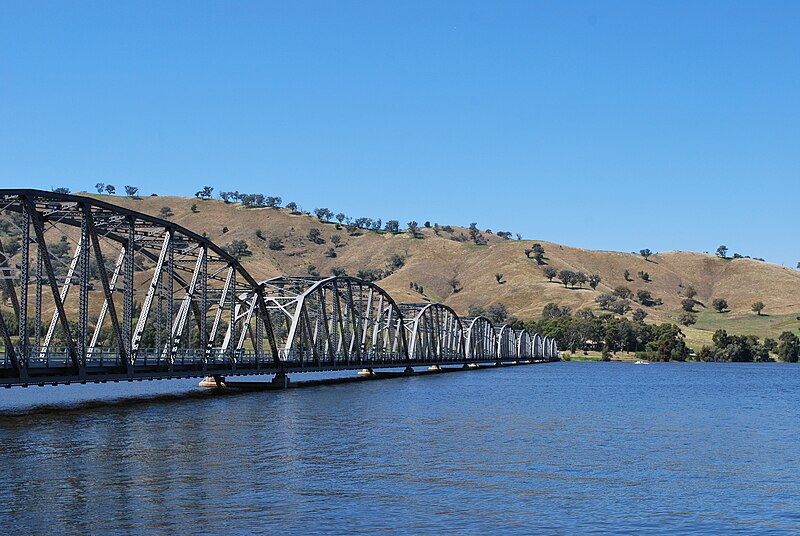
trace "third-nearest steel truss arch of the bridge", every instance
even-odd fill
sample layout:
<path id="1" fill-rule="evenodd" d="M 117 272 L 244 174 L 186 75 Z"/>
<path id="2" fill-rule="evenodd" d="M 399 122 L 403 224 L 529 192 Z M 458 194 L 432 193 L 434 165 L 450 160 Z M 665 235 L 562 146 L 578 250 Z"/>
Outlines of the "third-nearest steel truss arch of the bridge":
<path id="1" fill-rule="evenodd" d="M 464 329 L 456 312 L 440 303 L 400 304 L 415 361 L 464 360 Z"/>

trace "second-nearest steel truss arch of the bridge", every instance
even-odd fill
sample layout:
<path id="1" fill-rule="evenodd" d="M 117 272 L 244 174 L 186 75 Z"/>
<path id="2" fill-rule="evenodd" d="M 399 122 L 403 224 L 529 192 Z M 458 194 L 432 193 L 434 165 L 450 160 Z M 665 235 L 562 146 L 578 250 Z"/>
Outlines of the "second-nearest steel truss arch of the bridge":
<path id="1" fill-rule="evenodd" d="M 378 285 L 355 277 L 276 277 L 262 284 L 281 361 L 300 368 L 408 361 L 403 315 Z"/>

